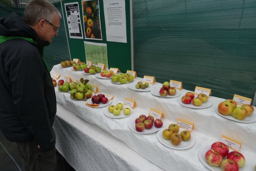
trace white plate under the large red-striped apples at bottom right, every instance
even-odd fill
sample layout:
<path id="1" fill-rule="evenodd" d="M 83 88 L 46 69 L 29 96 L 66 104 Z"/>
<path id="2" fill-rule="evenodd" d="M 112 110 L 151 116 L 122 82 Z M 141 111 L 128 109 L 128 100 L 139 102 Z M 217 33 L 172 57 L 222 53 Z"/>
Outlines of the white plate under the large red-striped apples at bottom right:
<path id="1" fill-rule="evenodd" d="M 204 164 L 204 166 L 206 166 L 208 169 L 212 170 L 212 171 L 222 171 L 221 169 L 221 166 L 211 166 L 209 163 L 207 163 L 206 159 L 204 158 L 204 155 L 205 153 L 211 149 L 211 146 L 206 146 L 206 147 L 203 147 L 199 150 L 198 152 L 198 157 L 199 157 L 199 160 Z M 230 149 L 229 149 L 230 151 Z M 231 150 L 233 151 L 233 150 Z M 226 159 L 226 157 L 224 157 L 222 160 Z M 246 171 L 247 170 L 247 167 L 246 167 L 246 163 L 243 167 L 239 168 L 239 171 Z"/>

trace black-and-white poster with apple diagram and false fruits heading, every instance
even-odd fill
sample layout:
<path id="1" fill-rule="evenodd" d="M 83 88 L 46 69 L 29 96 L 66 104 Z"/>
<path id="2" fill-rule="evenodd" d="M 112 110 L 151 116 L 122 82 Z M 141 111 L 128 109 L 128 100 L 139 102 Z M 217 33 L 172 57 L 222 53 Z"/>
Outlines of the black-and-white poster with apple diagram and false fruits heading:
<path id="1" fill-rule="evenodd" d="M 69 38 L 83 39 L 78 2 L 64 5 L 67 15 Z"/>

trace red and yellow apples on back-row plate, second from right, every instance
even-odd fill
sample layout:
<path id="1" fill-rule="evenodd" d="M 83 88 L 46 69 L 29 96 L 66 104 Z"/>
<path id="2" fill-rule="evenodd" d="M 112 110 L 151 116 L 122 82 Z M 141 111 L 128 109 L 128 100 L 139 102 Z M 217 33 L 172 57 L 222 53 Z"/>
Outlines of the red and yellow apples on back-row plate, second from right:
<path id="1" fill-rule="evenodd" d="M 182 96 L 181 101 L 184 104 L 190 104 L 191 102 L 195 106 L 200 106 L 202 103 L 207 102 L 208 96 L 204 93 L 200 93 L 197 95 L 197 98 L 195 98 L 195 94 L 192 92 L 187 92 L 185 96 Z"/>

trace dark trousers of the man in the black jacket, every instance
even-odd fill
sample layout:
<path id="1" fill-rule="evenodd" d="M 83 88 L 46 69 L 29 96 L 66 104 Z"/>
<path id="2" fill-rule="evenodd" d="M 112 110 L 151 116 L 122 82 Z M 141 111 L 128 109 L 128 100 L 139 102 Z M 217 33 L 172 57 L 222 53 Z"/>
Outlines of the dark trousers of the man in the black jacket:
<path id="1" fill-rule="evenodd" d="M 55 131 L 52 129 L 56 140 Z M 56 149 L 42 152 L 34 138 L 17 142 L 19 154 L 22 158 L 23 171 L 55 171 L 57 166 Z"/>

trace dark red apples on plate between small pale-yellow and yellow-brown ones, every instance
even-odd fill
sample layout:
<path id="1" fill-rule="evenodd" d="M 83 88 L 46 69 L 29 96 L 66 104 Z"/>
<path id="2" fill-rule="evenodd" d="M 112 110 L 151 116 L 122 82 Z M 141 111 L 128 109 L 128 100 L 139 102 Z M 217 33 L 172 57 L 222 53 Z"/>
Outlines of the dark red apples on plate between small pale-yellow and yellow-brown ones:
<path id="1" fill-rule="evenodd" d="M 156 119 L 153 116 L 146 116 L 141 114 L 138 118 L 135 119 L 135 129 L 138 132 L 144 131 L 144 129 L 151 129 L 155 125 L 157 128 L 163 126 L 163 121 L 161 119 Z"/>

